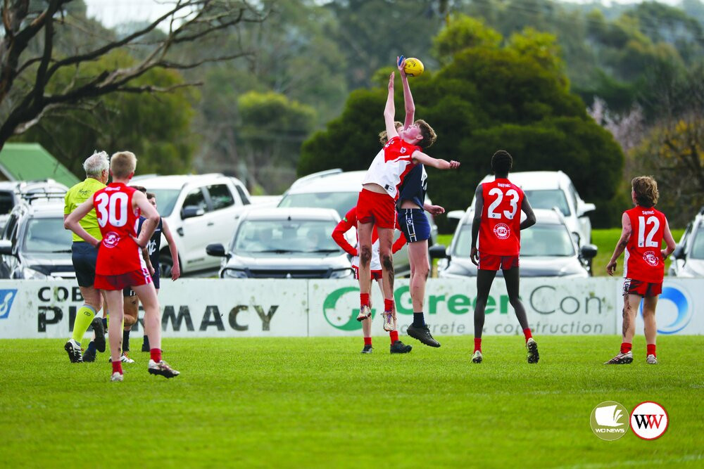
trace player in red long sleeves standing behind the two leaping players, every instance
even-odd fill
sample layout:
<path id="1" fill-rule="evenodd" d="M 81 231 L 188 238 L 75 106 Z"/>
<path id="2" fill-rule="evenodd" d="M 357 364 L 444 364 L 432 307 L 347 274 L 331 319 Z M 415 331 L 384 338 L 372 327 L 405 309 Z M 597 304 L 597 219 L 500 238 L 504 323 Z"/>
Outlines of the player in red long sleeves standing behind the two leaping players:
<path id="1" fill-rule="evenodd" d="M 344 249 L 349 255 L 352 256 L 352 269 L 355 273 L 355 278 L 359 280 L 359 252 L 357 248 L 347 242 L 345 239 L 345 233 L 349 229 L 354 228 L 357 231 L 357 207 L 352 207 L 349 212 L 345 215 L 343 219 L 335 226 L 334 231 L 332 231 L 332 239 L 335 240 L 340 248 Z M 392 252 L 396 252 L 403 248 L 406 244 L 406 238 L 403 237 L 403 233 L 398 237 L 394 243 Z M 372 230 L 372 262 L 371 262 L 371 275 L 372 278 L 379 284 L 379 290 L 381 290 L 382 295 L 384 295 L 384 288 L 382 286 L 382 264 L 379 261 L 379 236 L 377 235 L 377 230 Z M 371 290 L 371 287 L 370 287 Z M 371 300 L 370 300 L 371 306 Z M 372 353 L 372 319 L 367 317 L 362 321 L 362 334 L 364 338 L 364 348 L 362 349 L 363 354 Z M 389 332 L 389 338 L 391 338 L 391 346 L 389 347 L 389 352 L 392 354 L 407 354 L 413 347 L 406 345 L 401 340 L 398 340 L 398 329 L 396 328 L 396 321 L 394 321 L 394 329 Z"/>

